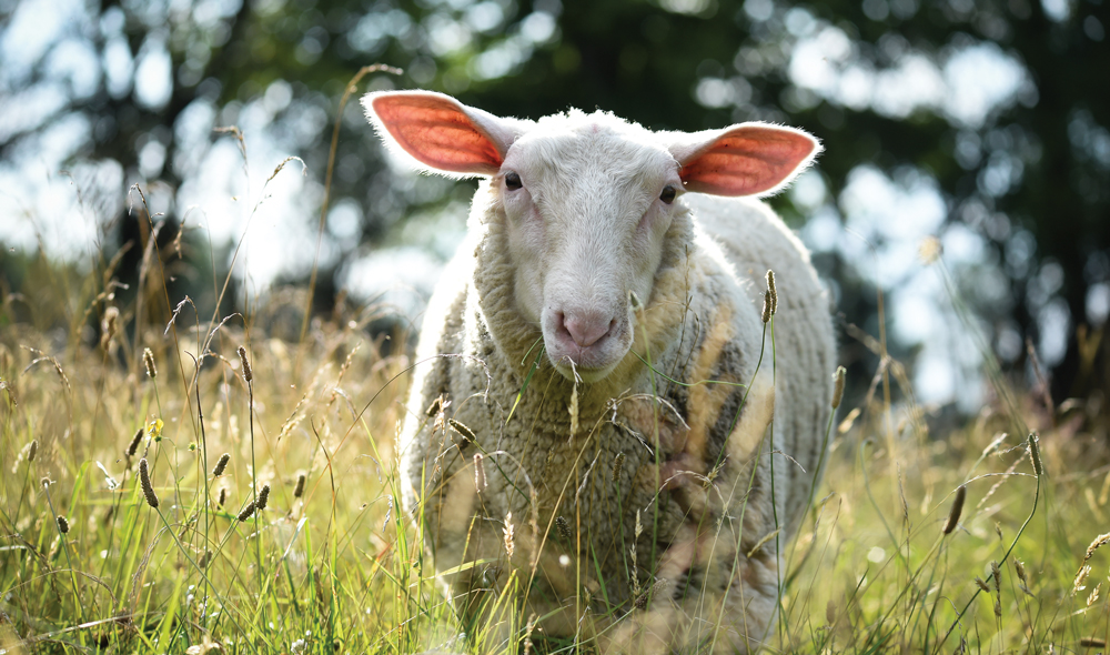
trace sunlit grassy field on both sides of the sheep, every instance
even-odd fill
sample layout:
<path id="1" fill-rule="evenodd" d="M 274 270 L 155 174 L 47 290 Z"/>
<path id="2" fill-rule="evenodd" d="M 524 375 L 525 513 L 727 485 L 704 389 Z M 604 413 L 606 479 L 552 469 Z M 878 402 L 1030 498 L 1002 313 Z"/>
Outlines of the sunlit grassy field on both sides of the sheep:
<path id="1" fill-rule="evenodd" d="M 31 256 L 3 290 L 0 652 L 492 648 L 461 636 L 401 510 L 414 362 L 404 331 L 370 330 L 387 310 L 306 321 L 292 289 L 198 315 L 169 259 L 148 241 L 125 301 L 107 259 L 90 274 Z M 991 365 L 990 404 L 930 431 L 882 343 L 842 339 L 880 364 L 831 426 L 765 652 L 1104 651 L 1100 399 L 1053 406 Z M 529 618 L 511 649 L 592 652 Z"/>

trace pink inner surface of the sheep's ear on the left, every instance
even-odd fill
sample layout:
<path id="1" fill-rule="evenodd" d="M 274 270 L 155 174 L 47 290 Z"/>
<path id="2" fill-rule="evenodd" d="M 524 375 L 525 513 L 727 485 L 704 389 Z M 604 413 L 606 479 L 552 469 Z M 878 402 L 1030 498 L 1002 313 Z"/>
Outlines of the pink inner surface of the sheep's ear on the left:
<path id="1" fill-rule="evenodd" d="M 447 99 L 397 93 L 373 100 L 393 139 L 420 162 L 454 173 L 494 174 L 503 161 L 494 142 Z"/>

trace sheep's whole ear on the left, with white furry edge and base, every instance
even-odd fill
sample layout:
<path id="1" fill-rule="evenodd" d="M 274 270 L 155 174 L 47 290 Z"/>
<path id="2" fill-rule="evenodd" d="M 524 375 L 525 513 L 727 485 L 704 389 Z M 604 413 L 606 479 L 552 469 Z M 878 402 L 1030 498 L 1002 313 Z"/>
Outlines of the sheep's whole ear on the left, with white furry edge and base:
<path id="1" fill-rule="evenodd" d="M 516 139 L 517 121 L 431 91 L 379 91 L 362 98 L 387 143 L 440 173 L 493 175 Z"/>

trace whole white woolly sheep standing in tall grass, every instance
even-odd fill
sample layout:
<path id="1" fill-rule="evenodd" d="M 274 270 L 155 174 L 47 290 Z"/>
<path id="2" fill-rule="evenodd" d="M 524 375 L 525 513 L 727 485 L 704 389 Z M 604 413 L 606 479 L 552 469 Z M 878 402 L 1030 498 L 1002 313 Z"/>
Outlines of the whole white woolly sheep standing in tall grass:
<path id="1" fill-rule="evenodd" d="M 363 105 L 422 171 L 482 178 L 397 444 L 467 634 L 757 648 L 824 456 L 836 346 L 806 249 L 756 198 L 817 140 L 500 118 L 426 91 Z"/>

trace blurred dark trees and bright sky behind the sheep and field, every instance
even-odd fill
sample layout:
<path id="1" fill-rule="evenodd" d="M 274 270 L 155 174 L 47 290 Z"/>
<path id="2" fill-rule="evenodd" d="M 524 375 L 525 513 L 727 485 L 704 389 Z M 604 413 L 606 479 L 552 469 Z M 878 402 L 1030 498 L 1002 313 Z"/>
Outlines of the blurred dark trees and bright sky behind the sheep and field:
<path id="1" fill-rule="evenodd" d="M 919 402 L 957 414 L 990 401 L 990 353 L 1038 384 L 1028 346 L 1057 401 L 1100 393 L 1108 28 L 1106 0 L 0 0 L 6 320 L 49 326 L 51 266 L 137 293 L 153 224 L 172 303 L 202 316 L 229 269 L 221 315 L 303 299 L 316 262 L 314 312 L 407 324 L 475 183 L 391 162 L 356 100 L 424 88 L 503 115 L 804 128 L 826 151 L 773 203 L 814 252 L 858 384 L 871 335 Z M 404 72 L 359 82 L 321 219 L 341 98 L 377 62 Z"/>

